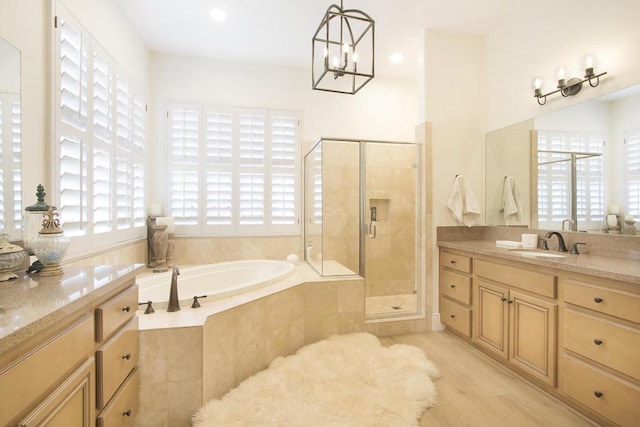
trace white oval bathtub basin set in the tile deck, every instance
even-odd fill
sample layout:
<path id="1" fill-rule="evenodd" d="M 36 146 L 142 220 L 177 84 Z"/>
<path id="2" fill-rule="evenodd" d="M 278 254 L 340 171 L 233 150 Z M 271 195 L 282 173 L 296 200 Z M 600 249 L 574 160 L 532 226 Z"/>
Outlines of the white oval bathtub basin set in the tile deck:
<path id="1" fill-rule="evenodd" d="M 191 303 L 194 296 L 206 295 L 199 300 L 226 298 L 248 292 L 282 280 L 294 274 L 294 265 L 276 260 L 229 261 L 192 267 L 178 267 L 178 296 L 181 303 Z M 139 301 L 152 301 L 154 306 L 166 306 L 169 300 L 171 274 L 153 273 L 139 276 Z"/>

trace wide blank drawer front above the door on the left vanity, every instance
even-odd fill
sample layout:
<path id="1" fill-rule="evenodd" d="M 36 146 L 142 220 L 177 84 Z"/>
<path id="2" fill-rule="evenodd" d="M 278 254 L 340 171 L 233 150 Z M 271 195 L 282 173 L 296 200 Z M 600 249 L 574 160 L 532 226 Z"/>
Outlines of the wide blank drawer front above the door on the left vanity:
<path id="1" fill-rule="evenodd" d="M 43 399 L 93 352 L 93 316 L 87 316 L 0 372 L 0 425 Z M 15 423 L 15 422 L 14 422 Z"/>

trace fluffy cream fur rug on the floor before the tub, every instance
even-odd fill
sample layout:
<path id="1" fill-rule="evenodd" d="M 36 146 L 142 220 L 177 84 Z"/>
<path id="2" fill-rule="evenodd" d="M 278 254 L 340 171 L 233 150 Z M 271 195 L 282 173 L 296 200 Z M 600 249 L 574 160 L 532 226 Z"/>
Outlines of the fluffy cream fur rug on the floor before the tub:
<path id="1" fill-rule="evenodd" d="M 279 357 L 193 417 L 196 427 L 417 426 L 437 368 L 417 347 L 335 335 Z"/>

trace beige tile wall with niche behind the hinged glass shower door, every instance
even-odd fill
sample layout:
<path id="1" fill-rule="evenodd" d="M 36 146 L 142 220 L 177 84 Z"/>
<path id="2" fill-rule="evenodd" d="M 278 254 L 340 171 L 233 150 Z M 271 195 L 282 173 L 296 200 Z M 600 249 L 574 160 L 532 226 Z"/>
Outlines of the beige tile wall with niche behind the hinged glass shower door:
<path id="1" fill-rule="evenodd" d="M 371 205 L 380 206 L 376 238 L 365 239 L 366 296 L 414 291 L 415 150 L 409 145 L 367 144 L 366 212 L 370 212 Z"/>

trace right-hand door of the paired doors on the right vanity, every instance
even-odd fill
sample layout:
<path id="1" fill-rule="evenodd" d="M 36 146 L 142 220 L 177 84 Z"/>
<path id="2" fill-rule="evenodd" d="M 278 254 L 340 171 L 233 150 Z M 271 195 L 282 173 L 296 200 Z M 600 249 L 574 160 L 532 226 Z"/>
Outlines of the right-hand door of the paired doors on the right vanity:
<path id="1" fill-rule="evenodd" d="M 517 291 L 508 304 L 509 362 L 555 387 L 558 305 Z"/>

